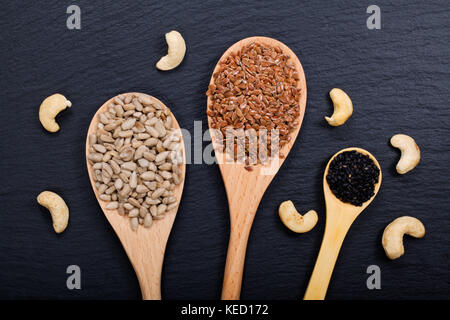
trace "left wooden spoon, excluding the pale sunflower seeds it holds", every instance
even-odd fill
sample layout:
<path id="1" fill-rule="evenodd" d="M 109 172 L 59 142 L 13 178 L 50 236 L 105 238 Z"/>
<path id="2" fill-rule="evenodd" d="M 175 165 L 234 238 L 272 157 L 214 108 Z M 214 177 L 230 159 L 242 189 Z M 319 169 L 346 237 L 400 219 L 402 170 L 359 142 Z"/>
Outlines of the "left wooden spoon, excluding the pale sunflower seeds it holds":
<path id="1" fill-rule="evenodd" d="M 141 93 L 124 93 L 125 96 L 128 94 L 139 95 Z M 158 99 L 154 97 L 151 98 L 157 103 L 164 105 Z M 89 125 L 86 139 L 86 163 L 89 179 L 91 180 L 92 189 L 94 190 L 95 196 L 103 210 L 103 213 L 119 237 L 120 242 L 122 243 L 122 246 L 124 247 L 128 258 L 133 265 L 141 287 L 142 299 L 160 300 L 161 271 L 164 260 L 164 251 L 166 249 L 167 240 L 169 239 L 170 230 L 172 229 L 172 225 L 178 211 L 186 174 L 186 156 L 184 152 L 183 136 L 180 131 L 181 152 L 183 154 L 183 163 L 180 165 L 180 169 L 182 171 L 183 182 L 177 185 L 174 190 L 174 196 L 177 198 L 178 206 L 171 211 L 166 212 L 163 219 L 154 220 L 150 228 L 144 228 L 140 225 L 136 231 L 133 231 L 130 227 L 130 218 L 128 216 L 121 216 L 117 210 L 107 210 L 105 208 L 108 202 L 99 198 L 99 193 L 95 187 L 94 170 L 87 159 L 89 152 L 89 135 L 97 131 L 99 113 L 107 111 L 109 104 L 112 103 L 113 100 L 114 98 L 109 99 L 100 107 L 100 109 L 97 110 L 92 118 L 91 124 Z M 180 129 L 175 116 L 172 113 L 170 115 L 172 116 L 172 127 Z"/>

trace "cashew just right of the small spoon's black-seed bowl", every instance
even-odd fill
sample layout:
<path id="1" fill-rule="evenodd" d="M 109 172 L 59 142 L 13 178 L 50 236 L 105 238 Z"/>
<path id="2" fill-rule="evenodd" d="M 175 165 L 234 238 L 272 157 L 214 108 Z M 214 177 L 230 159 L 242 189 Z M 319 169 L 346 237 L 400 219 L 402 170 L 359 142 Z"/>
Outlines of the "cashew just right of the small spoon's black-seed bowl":
<path id="1" fill-rule="evenodd" d="M 419 164 L 420 149 L 413 138 L 406 134 L 396 134 L 391 138 L 391 145 L 402 152 L 396 167 L 398 173 L 405 174 Z"/>

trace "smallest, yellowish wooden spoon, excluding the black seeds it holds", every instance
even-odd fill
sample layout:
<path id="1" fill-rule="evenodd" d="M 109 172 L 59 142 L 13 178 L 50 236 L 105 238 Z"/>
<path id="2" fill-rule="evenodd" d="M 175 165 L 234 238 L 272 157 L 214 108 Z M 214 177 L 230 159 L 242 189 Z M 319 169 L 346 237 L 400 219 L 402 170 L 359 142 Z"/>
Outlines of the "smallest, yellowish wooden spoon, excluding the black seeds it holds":
<path id="1" fill-rule="evenodd" d="M 375 165 L 380 169 L 380 176 L 378 183 L 375 185 L 374 195 L 372 198 L 363 203 L 361 207 L 345 203 L 336 198 L 327 182 L 328 169 L 331 161 L 340 153 L 345 151 L 358 151 L 362 154 L 368 155 Z M 342 243 L 345 236 L 350 229 L 353 221 L 359 214 L 367 208 L 367 206 L 375 199 L 381 186 L 381 167 L 377 159 L 368 151 L 360 148 L 347 148 L 339 151 L 333 157 L 325 168 L 323 175 L 323 192 L 325 195 L 325 203 L 327 207 L 327 222 L 325 226 L 325 233 L 320 247 L 319 256 L 317 257 L 316 265 L 309 280 L 308 288 L 305 293 L 305 300 L 323 300 L 327 293 L 328 284 L 330 283 L 331 274 L 333 273 L 334 265 L 339 255 Z"/>

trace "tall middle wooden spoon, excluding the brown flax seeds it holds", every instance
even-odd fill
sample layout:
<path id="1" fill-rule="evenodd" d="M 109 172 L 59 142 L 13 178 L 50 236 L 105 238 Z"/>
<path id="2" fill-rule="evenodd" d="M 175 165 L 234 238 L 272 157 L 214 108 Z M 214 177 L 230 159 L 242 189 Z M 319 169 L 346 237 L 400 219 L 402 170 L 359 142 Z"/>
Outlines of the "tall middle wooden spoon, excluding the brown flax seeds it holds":
<path id="1" fill-rule="evenodd" d="M 219 61 L 221 61 L 224 57 L 227 57 L 232 52 L 241 50 L 242 47 L 252 42 L 279 47 L 283 53 L 290 56 L 290 60 L 294 63 L 295 69 L 297 70 L 299 76 L 298 88 L 301 89 L 301 96 L 299 100 L 300 115 L 297 119 L 299 124 L 290 134 L 291 141 L 280 149 L 280 153 L 287 156 L 295 142 L 295 139 L 297 138 L 305 113 L 305 74 L 300 61 L 291 49 L 289 49 L 285 44 L 267 37 L 251 37 L 236 42 L 228 48 L 227 51 L 225 51 Z M 219 63 L 216 65 L 213 75 L 218 72 L 218 70 Z M 210 84 L 213 82 L 214 78 L 211 77 Z M 211 105 L 211 103 L 212 99 L 208 96 L 208 105 Z M 212 128 L 210 117 L 208 117 L 208 124 L 209 128 Z M 211 138 L 227 192 L 231 220 L 230 241 L 228 244 L 222 299 L 236 300 L 239 299 L 241 292 L 245 251 L 256 210 L 258 209 L 259 202 L 261 201 L 264 192 L 274 178 L 275 174 L 278 172 L 280 166 L 283 164 L 284 159 L 276 158 L 274 161 L 270 161 L 270 163 L 265 166 L 254 166 L 252 167 L 252 171 L 248 171 L 244 168 L 244 164 L 225 163 L 225 154 L 222 152 L 220 147 L 220 140 L 216 138 L 214 132 L 211 133 Z"/>

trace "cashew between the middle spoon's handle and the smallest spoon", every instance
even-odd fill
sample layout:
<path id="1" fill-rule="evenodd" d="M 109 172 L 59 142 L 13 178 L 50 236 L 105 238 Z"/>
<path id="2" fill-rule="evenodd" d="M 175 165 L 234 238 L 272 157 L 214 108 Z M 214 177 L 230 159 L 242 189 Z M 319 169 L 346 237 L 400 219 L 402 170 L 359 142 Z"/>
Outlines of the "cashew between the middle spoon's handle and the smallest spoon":
<path id="1" fill-rule="evenodd" d="M 303 216 L 297 212 L 292 201 L 284 201 L 278 209 L 281 221 L 291 231 L 304 233 L 310 231 L 317 223 L 317 213 L 310 210 Z"/>

